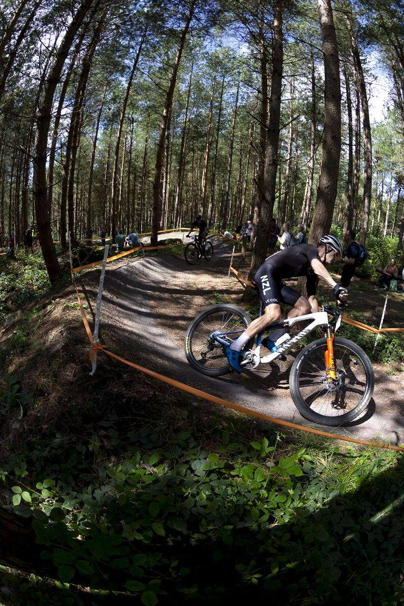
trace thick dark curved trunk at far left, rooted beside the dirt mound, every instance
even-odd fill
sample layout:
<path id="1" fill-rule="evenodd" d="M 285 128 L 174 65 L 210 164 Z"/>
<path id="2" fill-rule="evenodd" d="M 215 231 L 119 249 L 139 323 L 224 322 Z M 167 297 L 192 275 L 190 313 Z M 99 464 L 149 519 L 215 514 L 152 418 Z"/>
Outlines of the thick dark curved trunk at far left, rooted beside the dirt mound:
<path id="1" fill-rule="evenodd" d="M 93 0 L 83 0 L 80 8 L 73 16 L 61 41 L 48 78 L 45 81 L 38 108 L 33 159 L 33 195 L 35 200 L 36 225 L 41 241 L 42 255 L 44 256 L 51 283 L 55 282 L 56 278 L 62 275 L 51 235 L 50 209 L 47 203 L 46 187 L 47 139 L 52 115 L 53 97 L 73 39 L 92 3 Z"/>

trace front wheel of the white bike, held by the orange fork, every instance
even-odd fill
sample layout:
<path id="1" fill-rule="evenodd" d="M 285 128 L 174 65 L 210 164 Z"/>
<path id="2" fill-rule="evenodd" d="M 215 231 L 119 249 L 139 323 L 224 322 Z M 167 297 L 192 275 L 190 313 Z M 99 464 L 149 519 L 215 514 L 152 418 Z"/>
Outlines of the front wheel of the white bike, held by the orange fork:
<path id="1" fill-rule="evenodd" d="M 369 404 L 374 388 L 371 361 L 358 345 L 334 338 L 336 381 L 326 374 L 326 339 L 307 345 L 293 362 L 290 393 L 308 421 L 321 425 L 342 425 L 352 421 Z"/>

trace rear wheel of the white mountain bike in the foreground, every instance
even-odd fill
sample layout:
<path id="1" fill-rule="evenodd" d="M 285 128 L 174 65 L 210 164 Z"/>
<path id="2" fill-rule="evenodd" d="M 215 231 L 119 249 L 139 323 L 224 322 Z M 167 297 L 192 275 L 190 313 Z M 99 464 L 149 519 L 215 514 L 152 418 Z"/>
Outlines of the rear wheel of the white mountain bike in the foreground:
<path id="1" fill-rule="evenodd" d="M 185 335 L 185 356 L 193 368 L 203 375 L 217 377 L 231 371 L 224 353 L 225 345 L 214 338 L 226 333 L 222 339 L 228 344 L 235 341 L 250 324 L 250 316 L 235 305 L 214 305 L 201 311 Z M 245 348 L 249 349 L 254 339 Z"/>

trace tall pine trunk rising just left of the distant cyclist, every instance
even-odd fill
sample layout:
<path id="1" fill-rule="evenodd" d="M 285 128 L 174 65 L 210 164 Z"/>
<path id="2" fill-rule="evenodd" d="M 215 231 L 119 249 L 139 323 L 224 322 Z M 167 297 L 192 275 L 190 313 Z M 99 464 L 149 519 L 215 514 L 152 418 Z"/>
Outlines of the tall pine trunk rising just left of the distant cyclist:
<path id="1" fill-rule="evenodd" d="M 185 23 L 184 29 L 181 32 L 180 42 L 177 47 L 176 58 L 174 60 L 173 70 L 171 72 L 170 86 L 168 87 L 165 97 L 164 109 L 161 118 L 159 141 L 157 142 L 156 168 L 154 170 L 153 183 L 153 210 L 151 215 L 151 246 L 157 246 L 158 229 L 161 215 L 161 199 L 160 199 L 160 181 L 162 171 L 162 159 L 164 155 L 164 139 L 165 130 L 167 128 L 168 113 L 170 112 L 171 103 L 173 102 L 174 88 L 177 82 L 177 72 L 181 60 L 182 50 L 184 48 L 185 39 L 187 38 L 188 29 L 194 16 L 196 0 L 190 2 L 190 12 Z"/>

